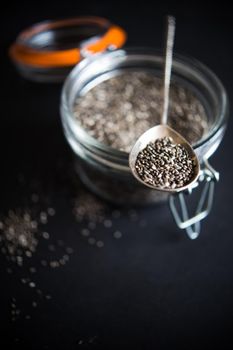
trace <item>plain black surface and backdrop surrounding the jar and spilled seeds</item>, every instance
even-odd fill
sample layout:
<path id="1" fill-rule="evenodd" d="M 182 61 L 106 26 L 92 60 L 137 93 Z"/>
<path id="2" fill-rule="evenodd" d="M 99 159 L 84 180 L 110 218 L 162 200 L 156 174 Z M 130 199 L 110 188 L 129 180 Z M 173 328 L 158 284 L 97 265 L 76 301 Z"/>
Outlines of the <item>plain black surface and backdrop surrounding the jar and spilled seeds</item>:
<path id="1" fill-rule="evenodd" d="M 121 240 L 91 247 L 77 232 L 71 214 L 72 188 L 65 179 L 71 151 L 59 117 L 61 85 L 23 80 L 7 49 L 23 28 L 44 19 L 99 15 L 123 26 L 129 46 L 161 47 L 164 15 L 177 18 L 175 50 L 208 65 L 233 97 L 233 16 L 228 9 L 204 8 L 188 1 L 169 6 L 155 2 L 25 2 L 1 11 L 0 211 L 22 206 L 39 179 L 57 215 L 53 239 L 74 248 L 67 266 L 39 270 L 37 282 L 52 300 L 41 303 L 31 320 L 10 320 L 10 298 L 21 308 L 32 299 L 23 288 L 22 269 L 7 274 L 0 256 L 0 343 L 30 349 L 188 349 L 227 342 L 233 346 L 232 120 L 211 163 L 220 172 L 214 206 L 200 237 L 179 231 L 166 205 L 141 209 L 141 228 L 122 216 Z M 231 115 L 231 114 L 230 114 Z M 20 174 L 24 185 L 19 186 Z M 33 184 L 32 184 L 33 186 Z M 105 233 L 104 233 L 105 234 Z M 38 254 L 46 254 L 40 248 Z M 43 251 L 44 249 L 44 251 Z M 80 343 L 80 340 L 82 342 Z M 3 345 L 2 345 L 3 346 Z M 3 347 L 1 347 L 3 349 Z"/>

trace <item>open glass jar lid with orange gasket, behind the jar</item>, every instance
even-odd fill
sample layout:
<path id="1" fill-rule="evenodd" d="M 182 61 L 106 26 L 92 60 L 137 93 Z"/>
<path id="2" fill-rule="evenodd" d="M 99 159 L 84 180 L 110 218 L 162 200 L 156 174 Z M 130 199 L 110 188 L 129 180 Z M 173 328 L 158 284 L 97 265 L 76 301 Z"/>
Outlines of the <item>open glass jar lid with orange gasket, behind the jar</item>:
<path id="1" fill-rule="evenodd" d="M 62 81 L 82 58 L 121 48 L 126 32 L 101 17 L 74 17 L 40 22 L 22 31 L 9 49 L 27 79 Z"/>

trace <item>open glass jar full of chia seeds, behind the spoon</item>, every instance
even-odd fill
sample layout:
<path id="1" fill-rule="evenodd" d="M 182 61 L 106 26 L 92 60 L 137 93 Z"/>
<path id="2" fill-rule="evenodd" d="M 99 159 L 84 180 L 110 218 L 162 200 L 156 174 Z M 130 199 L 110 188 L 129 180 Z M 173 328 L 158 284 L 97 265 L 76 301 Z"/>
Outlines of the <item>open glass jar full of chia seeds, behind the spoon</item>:
<path id="1" fill-rule="evenodd" d="M 81 180 L 118 204 L 167 199 L 134 179 L 128 157 L 137 138 L 160 123 L 163 54 L 116 50 L 87 58 L 68 76 L 61 115 Z M 218 78 L 200 62 L 174 55 L 169 125 L 193 146 L 200 164 L 221 142 L 227 98 Z"/>

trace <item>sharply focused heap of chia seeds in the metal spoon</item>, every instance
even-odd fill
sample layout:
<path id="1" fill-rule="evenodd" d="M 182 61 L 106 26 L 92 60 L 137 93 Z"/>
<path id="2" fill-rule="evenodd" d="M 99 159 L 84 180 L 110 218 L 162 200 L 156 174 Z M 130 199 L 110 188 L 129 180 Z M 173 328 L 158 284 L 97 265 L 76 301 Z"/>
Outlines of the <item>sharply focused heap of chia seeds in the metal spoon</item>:
<path id="1" fill-rule="evenodd" d="M 161 189 L 185 186 L 193 176 L 194 167 L 187 150 L 170 137 L 150 142 L 139 152 L 135 163 L 139 177 Z"/>

